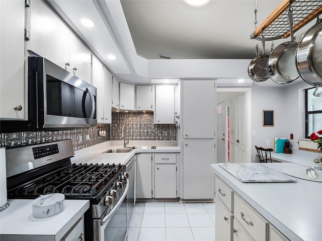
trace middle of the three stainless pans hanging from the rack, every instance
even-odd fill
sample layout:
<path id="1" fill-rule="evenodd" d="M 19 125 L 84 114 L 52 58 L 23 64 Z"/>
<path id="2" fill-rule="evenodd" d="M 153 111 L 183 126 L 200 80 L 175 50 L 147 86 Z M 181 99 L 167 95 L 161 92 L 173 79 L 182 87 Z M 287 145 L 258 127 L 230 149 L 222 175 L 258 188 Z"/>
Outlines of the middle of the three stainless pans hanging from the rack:
<path id="1" fill-rule="evenodd" d="M 293 16 L 290 8 L 287 16 L 291 41 L 277 46 L 268 59 L 268 74 L 277 84 L 290 84 L 299 78 L 295 62 L 298 43 L 294 41 Z"/>

